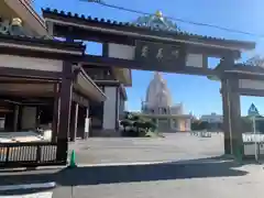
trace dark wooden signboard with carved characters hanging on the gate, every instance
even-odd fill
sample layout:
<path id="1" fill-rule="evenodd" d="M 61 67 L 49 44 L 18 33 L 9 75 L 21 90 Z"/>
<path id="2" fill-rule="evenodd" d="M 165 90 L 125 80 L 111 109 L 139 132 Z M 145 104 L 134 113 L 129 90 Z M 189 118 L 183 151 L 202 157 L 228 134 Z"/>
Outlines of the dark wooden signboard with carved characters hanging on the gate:
<path id="1" fill-rule="evenodd" d="M 147 67 L 154 67 L 155 70 L 169 72 L 178 70 L 185 66 L 184 44 L 169 45 L 163 43 L 153 43 L 136 41 L 135 61 L 144 63 Z M 150 69 L 153 70 L 153 69 Z"/>

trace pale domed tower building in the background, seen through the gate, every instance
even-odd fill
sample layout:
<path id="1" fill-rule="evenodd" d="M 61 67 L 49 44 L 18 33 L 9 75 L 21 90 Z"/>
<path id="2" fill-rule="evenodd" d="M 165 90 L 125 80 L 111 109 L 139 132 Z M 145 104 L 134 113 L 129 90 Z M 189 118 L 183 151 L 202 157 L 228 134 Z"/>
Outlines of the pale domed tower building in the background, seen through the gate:
<path id="1" fill-rule="evenodd" d="M 158 131 L 189 131 L 190 114 L 184 114 L 183 103 L 173 105 L 166 81 L 155 73 L 150 82 L 145 101 L 142 101 L 142 116 L 152 119 Z"/>

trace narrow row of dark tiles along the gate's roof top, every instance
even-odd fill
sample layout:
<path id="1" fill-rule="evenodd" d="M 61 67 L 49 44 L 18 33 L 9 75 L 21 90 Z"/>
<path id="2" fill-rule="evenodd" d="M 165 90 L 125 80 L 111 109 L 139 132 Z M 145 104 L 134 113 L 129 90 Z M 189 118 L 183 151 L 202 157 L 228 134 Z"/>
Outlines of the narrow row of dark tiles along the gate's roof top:
<path id="1" fill-rule="evenodd" d="M 118 22 L 118 21 L 112 21 L 112 20 L 107 20 L 107 19 L 98 19 L 98 18 L 92 18 L 92 16 L 86 16 L 84 14 L 78 14 L 78 13 L 72 13 L 72 12 L 65 12 L 65 11 L 58 11 L 56 9 L 52 10 L 51 8 L 43 9 L 43 16 L 44 18 L 68 18 L 68 19 L 75 19 L 79 20 L 80 22 L 86 22 L 86 23 L 92 23 L 92 24 L 100 24 L 100 25 L 106 25 L 109 28 L 123 28 L 124 30 L 128 31 L 140 31 L 142 33 L 147 33 L 152 32 L 157 35 L 164 35 L 164 36 L 179 36 L 183 38 L 188 38 L 188 40 L 207 40 L 207 41 L 226 41 L 226 42 L 231 42 L 231 43 L 239 43 L 239 44 L 246 44 L 251 45 L 252 47 L 255 46 L 255 43 L 253 42 L 241 42 L 241 41 L 233 41 L 233 40 L 224 40 L 221 37 L 212 37 L 212 36 L 206 36 L 206 35 L 198 35 L 198 34 L 193 34 L 189 32 L 184 32 L 184 31 L 161 31 L 158 28 L 148 28 L 148 26 L 142 26 L 142 25 L 135 25 L 133 23 L 129 22 Z M 62 20 L 63 20 L 62 19 Z"/>

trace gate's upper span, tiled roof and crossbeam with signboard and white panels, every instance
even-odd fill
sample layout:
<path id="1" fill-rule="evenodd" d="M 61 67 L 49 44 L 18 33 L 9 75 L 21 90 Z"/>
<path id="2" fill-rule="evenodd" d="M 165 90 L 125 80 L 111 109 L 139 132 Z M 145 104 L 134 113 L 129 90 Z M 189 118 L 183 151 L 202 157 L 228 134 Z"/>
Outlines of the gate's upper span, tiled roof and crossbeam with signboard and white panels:
<path id="1" fill-rule="evenodd" d="M 51 9 L 43 10 L 43 16 L 54 36 L 103 44 L 102 56 L 78 59 L 84 65 L 207 76 L 217 74 L 208 67 L 209 57 L 237 59 L 255 47 L 254 42 L 160 31 Z"/>

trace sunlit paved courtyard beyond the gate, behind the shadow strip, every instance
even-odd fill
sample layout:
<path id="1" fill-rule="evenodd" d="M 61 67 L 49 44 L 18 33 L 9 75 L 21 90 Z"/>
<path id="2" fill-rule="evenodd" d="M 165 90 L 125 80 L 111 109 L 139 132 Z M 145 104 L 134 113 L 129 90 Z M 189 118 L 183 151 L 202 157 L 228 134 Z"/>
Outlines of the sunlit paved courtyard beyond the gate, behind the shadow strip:
<path id="1" fill-rule="evenodd" d="M 95 138 L 88 142 L 76 142 L 70 150 L 76 151 L 79 164 L 182 161 L 223 154 L 222 135 L 202 139 L 188 133 L 167 133 L 165 136 Z"/>

